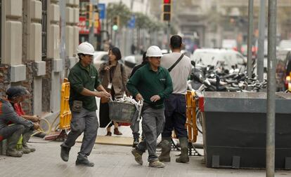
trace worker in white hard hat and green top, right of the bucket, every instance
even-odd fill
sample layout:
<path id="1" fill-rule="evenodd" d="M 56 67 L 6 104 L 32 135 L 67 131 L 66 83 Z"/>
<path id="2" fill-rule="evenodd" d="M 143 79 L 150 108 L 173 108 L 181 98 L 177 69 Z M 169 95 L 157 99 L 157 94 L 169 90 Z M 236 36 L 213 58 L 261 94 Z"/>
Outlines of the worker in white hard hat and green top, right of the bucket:
<path id="1" fill-rule="evenodd" d="M 152 45 L 146 51 L 148 64 L 138 69 L 127 83 L 127 90 L 143 100 L 141 111 L 143 134 L 145 139 L 131 150 L 138 164 L 143 164 L 142 155 L 148 149 L 149 167 L 163 168 L 156 154 L 157 137 L 164 127 L 164 99 L 173 91 L 172 79 L 169 71 L 160 66 L 162 51 Z"/>

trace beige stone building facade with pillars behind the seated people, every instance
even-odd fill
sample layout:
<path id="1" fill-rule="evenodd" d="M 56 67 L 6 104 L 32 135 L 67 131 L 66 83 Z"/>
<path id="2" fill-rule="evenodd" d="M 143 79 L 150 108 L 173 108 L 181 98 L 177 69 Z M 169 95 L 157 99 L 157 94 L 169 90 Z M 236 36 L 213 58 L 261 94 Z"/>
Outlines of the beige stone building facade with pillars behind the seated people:
<path id="1" fill-rule="evenodd" d="M 22 85 L 26 113 L 57 114 L 63 78 L 77 62 L 79 0 L 3 0 L 0 14 L 0 97 Z"/>

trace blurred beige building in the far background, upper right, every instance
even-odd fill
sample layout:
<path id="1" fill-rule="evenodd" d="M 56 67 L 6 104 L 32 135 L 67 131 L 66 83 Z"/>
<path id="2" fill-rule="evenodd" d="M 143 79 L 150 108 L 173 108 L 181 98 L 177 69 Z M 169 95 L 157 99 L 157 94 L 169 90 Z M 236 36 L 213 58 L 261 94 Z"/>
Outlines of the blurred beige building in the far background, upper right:
<path id="1" fill-rule="evenodd" d="M 267 3 L 266 3 L 267 4 Z M 291 1 L 278 1 L 278 38 L 291 38 Z M 266 17 L 268 11 L 266 6 Z M 174 22 L 181 34 L 197 34 L 200 47 L 220 48 L 223 39 L 246 43 L 248 3 L 241 0 L 195 0 L 180 6 Z M 267 20 L 266 20 L 267 22 Z M 254 37 L 258 35 L 259 0 L 254 1 Z M 267 29 L 267 24 L 266 24 Z"/>

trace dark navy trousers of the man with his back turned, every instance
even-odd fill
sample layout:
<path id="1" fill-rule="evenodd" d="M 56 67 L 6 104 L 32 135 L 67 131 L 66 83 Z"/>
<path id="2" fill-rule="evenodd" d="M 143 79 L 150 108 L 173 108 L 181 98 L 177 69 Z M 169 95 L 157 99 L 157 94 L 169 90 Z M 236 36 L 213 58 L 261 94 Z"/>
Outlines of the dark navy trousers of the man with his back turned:
<path id="1" fill-rule="evenodd" d="M 186 95 L 170 94 L 164 100 L 164 116 L 166 122 L 162 137 L 172 137 L 172 131 L 175 130 L 178 138 L 188 137 L 186 124 Z"/>

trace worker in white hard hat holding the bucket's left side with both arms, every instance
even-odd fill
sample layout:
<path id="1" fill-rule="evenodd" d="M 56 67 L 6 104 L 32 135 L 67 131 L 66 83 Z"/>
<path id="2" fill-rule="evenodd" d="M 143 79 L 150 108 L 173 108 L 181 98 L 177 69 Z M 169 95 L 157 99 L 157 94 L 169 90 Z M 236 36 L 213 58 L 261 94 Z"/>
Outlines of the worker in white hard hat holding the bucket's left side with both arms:
<path id="1" fill-rule="evenodd" d="M 72 112 L 71 131 L 67 135 L 67 140 L 62 143 L 60 150 L 60 157 L 67 162 L 70 148 L 75 145 L 78 136 L 84 132 L 76 165 L 87 167 L 94 166 L 94 163 L 89 162 L 87 157 L 94 146 L 99 127 L 95 97 L 111 97 L 101 85 L 97 69 L 91 64 L 93 53 L 94 48 L 91 43 L 84 42 L 77 47 L 79 62 L 72 67 L 68 76 L 70 82 L 69 104 Z"/>

